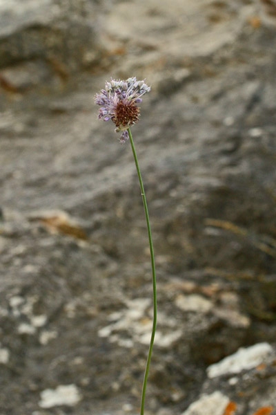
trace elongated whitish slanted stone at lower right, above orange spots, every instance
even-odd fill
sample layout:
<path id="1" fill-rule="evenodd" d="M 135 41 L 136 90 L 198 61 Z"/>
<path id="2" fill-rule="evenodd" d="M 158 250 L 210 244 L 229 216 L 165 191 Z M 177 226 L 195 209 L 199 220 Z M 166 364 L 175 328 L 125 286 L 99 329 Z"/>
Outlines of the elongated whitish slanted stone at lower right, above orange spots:
<path id="1" fill-rule="evenodd" d="M 273 348 L 268 343 L 258 343 L 247 348 L 242 347 L 231 356 L 207 368 L 209 378 L 225 374 L 239 374 L 244 369 L 252 369 L 260 365 Z"/>

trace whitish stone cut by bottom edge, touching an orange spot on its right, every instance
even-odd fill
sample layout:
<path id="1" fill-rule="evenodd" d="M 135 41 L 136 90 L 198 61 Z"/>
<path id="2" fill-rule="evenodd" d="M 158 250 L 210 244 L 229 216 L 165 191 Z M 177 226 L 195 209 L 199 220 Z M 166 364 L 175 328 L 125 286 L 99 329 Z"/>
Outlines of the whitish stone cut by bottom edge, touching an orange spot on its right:
<path id="1" fill-rule="evenodd" d="M 222 415 L 228 403 L 227 396 L 215 391 L 210 395 L 202 395 L 182 415 Z"/>

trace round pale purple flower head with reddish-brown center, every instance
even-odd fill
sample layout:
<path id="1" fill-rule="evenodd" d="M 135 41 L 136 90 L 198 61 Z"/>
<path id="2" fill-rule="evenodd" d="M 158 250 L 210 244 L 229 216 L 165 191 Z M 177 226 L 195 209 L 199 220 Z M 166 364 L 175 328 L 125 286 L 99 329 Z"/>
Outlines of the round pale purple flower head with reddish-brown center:
<path id="1" fill-rule="evenodd" d="M 121 133 L 120 142 L 128 139 L 130 125 L 139 120 L 139 107 L 141 97 L 150 92 L 150 86 L 144 81 L 137 81 L 136 77 L 130 77 L 126 81 L 110 80 L 106 82 L 106 89 L 95 95 L 95 104 L 99 105 L 98 118 L 103 121 L 114 122 L 115 131 Z"/>

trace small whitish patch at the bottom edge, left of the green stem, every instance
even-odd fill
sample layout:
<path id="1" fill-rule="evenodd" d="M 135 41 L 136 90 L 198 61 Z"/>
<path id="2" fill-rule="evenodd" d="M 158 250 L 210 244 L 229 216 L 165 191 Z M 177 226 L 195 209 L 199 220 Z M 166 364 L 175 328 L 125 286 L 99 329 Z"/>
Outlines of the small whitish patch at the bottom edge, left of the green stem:
<path id="1" fill-rule="evenodd" d="M 39 406 L 52 408 L 58 405 L 75 406 L 81 400 L 76 385 L 59 385 L 56 389 L 45 389 L 40 394 Z"/>

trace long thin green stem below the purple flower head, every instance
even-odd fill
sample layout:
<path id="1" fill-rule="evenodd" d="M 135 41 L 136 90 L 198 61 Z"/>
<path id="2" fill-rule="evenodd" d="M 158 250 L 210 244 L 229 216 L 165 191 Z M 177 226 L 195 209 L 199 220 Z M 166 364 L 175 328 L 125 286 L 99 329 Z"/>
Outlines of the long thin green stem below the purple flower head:
<path id="1" fill-rule="evenodd" d="M 130 145 L 132 148 L 133 157 L 135 159 L 135 165 L 137 169 L 137 174 L 139 178 L 140 188 L 141 188 L 141 196 L 144 203 L 144 210 L 145 210 L 145 216 L 146 216 L 146 224 L 148 228 L 148 242 L 150 244 L 150 259 L 151 259 L 151 268 L 152 268 L 152 291 L 153 291 L 153 320 L 152 320 L 152 333 L 150 337 L 150 347 L 148 349 L 148 358 L 146 361 L 146 369 L 144 374 L 144 382 L 143 382 L 143 388 L 142 388 L 142 394 L 141 394 L 141 409 L 140 409 L 140 415 L 144 415 L 144 404 L 145 404 L 145 395 L 146 395 L 146 383 L 148 380 L 148 371 L 150 369 L 150 358 L 152 354 L 152 347 L 153 342 L 155 340 L 155 331 L 156 331 L 156 322 L 157 322 L 157 297 L 156 297 L 156 275 L 155 275 L 155 257 L 153 254 L 153 246 L 152 246 L 152 237 L 150 232 L 150 218 L 148 216 L 148 206 L 146 203 L 146 194 L 144 191 L 144 185 L 141 178 L 141 172 L 139 169 L 139 164 L 137 160 L 137 155 L 134 147 L 134 142 L 132 139 L 132 134 L 130 132 L 130 129 L 128 128 L 128 136 L 130 138 Z"/>

